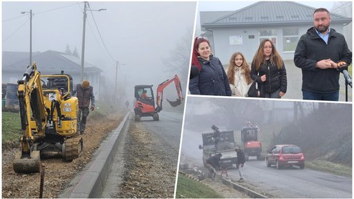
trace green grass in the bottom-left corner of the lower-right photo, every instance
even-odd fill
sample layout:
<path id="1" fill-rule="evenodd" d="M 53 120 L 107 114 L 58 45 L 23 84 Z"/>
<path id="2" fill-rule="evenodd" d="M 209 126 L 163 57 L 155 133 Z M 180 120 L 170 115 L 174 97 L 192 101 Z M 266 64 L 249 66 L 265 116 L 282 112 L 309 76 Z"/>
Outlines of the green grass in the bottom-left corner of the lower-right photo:
<path id="1" fill-rule="evenodd" d="M 178 175 L 176 198 L 223 198 L 223 196 L 200 182 Z"/>

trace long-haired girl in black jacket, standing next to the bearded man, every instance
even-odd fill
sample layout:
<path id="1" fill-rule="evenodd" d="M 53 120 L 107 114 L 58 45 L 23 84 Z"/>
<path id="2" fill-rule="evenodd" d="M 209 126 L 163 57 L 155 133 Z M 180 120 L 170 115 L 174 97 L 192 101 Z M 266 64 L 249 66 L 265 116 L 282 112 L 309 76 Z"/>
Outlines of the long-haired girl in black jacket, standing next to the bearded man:
<path id="1" fill-rule="evenodd" d="M 259 44 L 253 57 L 251 76 L 261 88 L 261 97 L 281 98 L 286 93 L 286 69 L 270 39 Z"/>

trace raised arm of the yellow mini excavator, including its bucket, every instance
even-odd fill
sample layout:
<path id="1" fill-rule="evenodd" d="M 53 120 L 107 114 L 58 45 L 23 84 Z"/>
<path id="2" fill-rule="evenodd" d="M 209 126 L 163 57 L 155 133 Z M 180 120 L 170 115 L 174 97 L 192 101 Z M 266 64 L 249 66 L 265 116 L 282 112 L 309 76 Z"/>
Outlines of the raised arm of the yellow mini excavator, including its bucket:
<path id="1" fill-rule="evenodd" d="M 35 135 L 44 136 L 46 107 L 41 87 L 41 77 L 36 64 L 28 66 L 24 77 L 17 84 L 21 129 L 21 151 L 15 154 L 13 168 L 17 173 L 39 172 L 39 151 L 33 151 Z M 34 120 L 34 121 L 33 121 Z"/>

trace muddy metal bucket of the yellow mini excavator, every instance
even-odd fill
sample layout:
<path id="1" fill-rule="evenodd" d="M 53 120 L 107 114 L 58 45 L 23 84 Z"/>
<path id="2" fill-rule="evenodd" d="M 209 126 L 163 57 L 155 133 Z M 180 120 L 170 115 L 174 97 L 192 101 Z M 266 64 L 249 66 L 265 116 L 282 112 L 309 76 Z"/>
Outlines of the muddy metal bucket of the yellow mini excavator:
<path id="1" fill-rule="evenodd" d="M 22 151 L 17 151 L 13 162 L 16 173 L 39 173 L 41 169 L 41 156 L 39 151 L 32 151 L 30 158 L 22 158 Z"/>

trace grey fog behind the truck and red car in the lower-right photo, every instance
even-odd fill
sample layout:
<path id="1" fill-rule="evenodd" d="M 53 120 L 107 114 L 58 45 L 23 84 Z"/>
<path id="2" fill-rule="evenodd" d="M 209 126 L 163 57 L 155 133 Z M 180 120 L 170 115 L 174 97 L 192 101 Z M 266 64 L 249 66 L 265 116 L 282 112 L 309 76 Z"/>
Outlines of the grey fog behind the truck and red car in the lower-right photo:
<path id="1" fill-rule="evenodd" d="M 351 113 L 352 104 L 188 97 L 180 162 L 189 162 L 192 158 L 203 165 L 203 150 L 198 149 L 198 144 L 203 145 L 202 133 L 213 132 L 213 124 L 220 131 L 233 130 L 235 142 L 242 146 L 240 131 L 248 121 L 261 129 L 258 138 L 264 151 L 274 144 L 297 144 L 310 158 L 328 158 L 327 151 L 338 151 L 337 156 L 342 157 L 344 153 L 339 149 L 351 153 L 347 149 L 351 147 Z"/>

